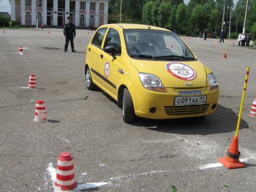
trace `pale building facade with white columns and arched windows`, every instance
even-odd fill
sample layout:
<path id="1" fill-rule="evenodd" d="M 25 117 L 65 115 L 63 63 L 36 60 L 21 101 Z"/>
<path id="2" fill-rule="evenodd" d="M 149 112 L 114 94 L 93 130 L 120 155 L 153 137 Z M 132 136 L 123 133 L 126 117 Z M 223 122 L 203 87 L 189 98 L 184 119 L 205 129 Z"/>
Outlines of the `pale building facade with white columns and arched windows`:
<path id="1" fill-rule="evenodd" d="M 63 26 L 73 16 L 76 27 L 108 24 L 110 0 L 9 0 L 11 20 L 25 26 Z"/>

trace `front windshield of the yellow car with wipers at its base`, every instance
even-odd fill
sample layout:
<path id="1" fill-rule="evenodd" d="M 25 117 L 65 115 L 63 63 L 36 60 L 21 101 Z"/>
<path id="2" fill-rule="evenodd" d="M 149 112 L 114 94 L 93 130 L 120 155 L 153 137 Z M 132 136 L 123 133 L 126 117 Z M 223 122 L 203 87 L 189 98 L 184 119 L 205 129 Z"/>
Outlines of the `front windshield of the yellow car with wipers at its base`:
<path id="1" fill-rule="evenodd" d="M 123 32 L 127 53 L 131 57 L 196 60 L 174 32 L 152 29 L 126 29 Z"/>

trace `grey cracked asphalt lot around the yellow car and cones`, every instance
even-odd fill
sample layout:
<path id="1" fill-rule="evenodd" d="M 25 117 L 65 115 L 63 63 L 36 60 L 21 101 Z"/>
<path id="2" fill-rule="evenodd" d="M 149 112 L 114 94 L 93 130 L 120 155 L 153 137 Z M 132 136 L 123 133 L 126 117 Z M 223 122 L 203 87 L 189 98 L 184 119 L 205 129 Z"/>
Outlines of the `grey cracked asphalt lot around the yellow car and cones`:
<path id="1" fill-rule="evenodd" d="M 218 79 L 217 112 L 128 124 L 115 100 L 86 88 L 86 48 L 95 31 L 77 30 L 77 53 L 70 45 L 65 53 L 62 29 L 49 30 L 0 33 L 0 191 L 55 191 L 62 152 L 73 157 L 76 191 L 255 191 L 256 117 L 249 113 L 256 99 L 256 49 L 239 47 L 236 39 L 226 46 L 218 39 L 181 37 Z M 218 159 L 237 129 L 247 67 L 238 135 L 246 167 L 227 169 Z M 37 89 L 27 89 L 31 74 Z M 46 123 L 33 121 L 39 99 Z"/>

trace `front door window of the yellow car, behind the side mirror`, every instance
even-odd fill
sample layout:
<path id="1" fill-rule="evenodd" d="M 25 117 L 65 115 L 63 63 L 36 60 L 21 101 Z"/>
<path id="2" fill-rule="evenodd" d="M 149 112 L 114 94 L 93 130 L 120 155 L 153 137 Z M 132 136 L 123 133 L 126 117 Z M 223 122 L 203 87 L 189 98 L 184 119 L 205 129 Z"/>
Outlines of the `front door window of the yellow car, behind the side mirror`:
<path id="1" fill-rule="evenodd" d="M 106 40 L 104 43 L 104 47 L 106 46 L 114 46 L 114 48 L 116 49 L 116 54 L 121 54 L 120 35 L 116 30 L 109 30 L 109 33 L 106 36 Z"/>

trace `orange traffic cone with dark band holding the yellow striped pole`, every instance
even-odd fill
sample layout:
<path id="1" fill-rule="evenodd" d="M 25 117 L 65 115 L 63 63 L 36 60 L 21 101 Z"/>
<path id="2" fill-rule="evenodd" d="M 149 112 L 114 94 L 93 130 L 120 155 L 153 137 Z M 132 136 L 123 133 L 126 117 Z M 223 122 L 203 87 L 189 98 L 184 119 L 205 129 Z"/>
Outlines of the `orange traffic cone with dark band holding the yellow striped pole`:
<path id="1" fill-rule="evenodd" d="M 226 157 L 220 158 L 218 161 L 226 168 L 244 168 L 245 164 L 239 161 L 240 152 L 238 151 L 238 136 L 234 136 L 233 141 L 227 150 Z"/>

